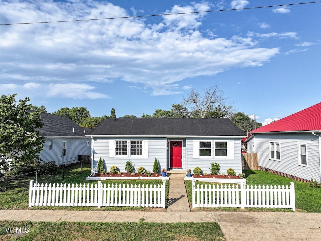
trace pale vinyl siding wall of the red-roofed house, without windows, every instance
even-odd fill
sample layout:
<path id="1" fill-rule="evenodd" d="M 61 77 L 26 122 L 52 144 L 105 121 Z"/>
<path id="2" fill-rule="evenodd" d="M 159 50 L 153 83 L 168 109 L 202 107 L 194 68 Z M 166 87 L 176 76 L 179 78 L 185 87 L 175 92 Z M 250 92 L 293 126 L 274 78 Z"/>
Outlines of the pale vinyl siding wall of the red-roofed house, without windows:
<path id="1" fill-rule="evenodd" d="M 254 138 L 250 140 L 252 142 Z M 270 142 L 280 143 L 280 160 L 270 160 Z M 306 144 L 308 166 L 299 164 L 299 145 Z M 306 180 L 320 180 L 320 158 L 318 137 L 312 133 L 255 134 L 257 164 Z"/>

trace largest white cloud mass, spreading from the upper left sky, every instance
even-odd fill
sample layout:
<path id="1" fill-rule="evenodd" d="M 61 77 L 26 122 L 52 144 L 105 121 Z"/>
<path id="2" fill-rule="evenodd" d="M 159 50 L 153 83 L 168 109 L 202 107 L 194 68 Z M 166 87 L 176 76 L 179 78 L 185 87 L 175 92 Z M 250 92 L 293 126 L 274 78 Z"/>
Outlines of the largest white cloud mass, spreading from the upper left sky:
<path id="1" fill-rule="evenodd" d="M 209 3 L 201 2 L 175 5 L 166 13 L 209 9 Z M 129 15 L 119 6 L 91 0 L 73 4 L 12 0 L 0 5 L 0 16 L 6 23 Z M 181 93 L 178 81 L 213 76 L 231 68 L 261 66 L 280 53 L 277 47 L 257 46 L 257 39 L 263 38 L 257 34 L 231 38 L 210 32 L 203 35 L 198 28 L 205 15 L 164 16 L 153 24 L 135 18 L 0 28 L 0 69 L 4 70 L 0 72 L 0 84 L 14 82 L 26 89 L 28 86 L 22 87 L 22 83 L 34 83 L 52 95 L 59 89 L 63 97 L 78 98 L 64 91 L 69 89 L 96 98 L 107 96 L 93 92 L 91 83 L 127 81 L 151 95 L 171 95 Z M 274 37 L 286 37 L 284 34 L 275 33 Z M 49 89 L 50 83 L 56 85 Z M 67 83 L 80 86 L 74 88 Z"/>

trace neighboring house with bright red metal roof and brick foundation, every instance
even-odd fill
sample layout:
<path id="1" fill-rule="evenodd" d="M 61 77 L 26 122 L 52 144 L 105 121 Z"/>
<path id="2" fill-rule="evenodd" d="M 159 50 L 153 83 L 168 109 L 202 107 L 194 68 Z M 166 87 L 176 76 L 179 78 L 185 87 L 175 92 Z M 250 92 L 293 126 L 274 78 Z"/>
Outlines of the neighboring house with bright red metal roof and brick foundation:
<path id="1" fill-rule="evenodd" d="M 250 131 L 247 152 L 261 170 L 321 182 L 321 102 Z"/>

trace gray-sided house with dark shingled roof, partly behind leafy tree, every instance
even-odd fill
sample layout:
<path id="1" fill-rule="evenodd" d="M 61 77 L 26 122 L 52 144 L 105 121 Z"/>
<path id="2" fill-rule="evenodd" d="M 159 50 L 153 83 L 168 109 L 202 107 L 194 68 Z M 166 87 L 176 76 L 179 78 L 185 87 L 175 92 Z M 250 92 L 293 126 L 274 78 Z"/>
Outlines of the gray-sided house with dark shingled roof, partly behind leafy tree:
<path id="1" fill-rule="evenodd" d="M 78 161 L 78 155 L 91 154 L 91 138 L 86 136 L 89 128 L 80 127 L 65 116 L 43 112 L 40 116 L 44 125 L 36 130 L 46 140 L 40 152 L 44 162 L 72 163 Z"/>

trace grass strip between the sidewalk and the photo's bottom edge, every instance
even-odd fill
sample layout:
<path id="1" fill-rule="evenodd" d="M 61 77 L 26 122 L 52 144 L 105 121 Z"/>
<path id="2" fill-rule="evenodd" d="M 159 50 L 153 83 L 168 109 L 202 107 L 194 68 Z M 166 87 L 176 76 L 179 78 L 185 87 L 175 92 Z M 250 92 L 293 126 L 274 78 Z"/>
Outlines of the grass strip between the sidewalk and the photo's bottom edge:
<path id="1" fill-rule="evenodd" d="M 104 223 L 0 221 L 0 227 L 29 228 L 25 236 L 14 238 L 0 232 L 0 240 L 226 240 L 217 223 Z"/>

